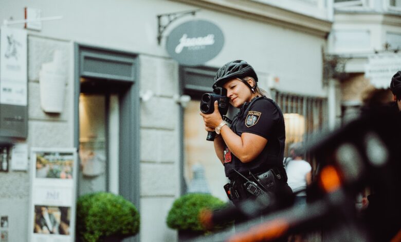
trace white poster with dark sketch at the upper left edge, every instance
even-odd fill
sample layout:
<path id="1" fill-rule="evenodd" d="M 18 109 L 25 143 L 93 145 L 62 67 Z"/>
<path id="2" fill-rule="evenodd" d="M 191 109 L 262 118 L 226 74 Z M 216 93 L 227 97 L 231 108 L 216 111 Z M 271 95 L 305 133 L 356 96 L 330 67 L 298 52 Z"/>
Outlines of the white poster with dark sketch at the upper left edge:
<path id="1" fill-rule="evenodd" d="M 0 29 L 0 103 L 27 105 L 27 32 Z"/>

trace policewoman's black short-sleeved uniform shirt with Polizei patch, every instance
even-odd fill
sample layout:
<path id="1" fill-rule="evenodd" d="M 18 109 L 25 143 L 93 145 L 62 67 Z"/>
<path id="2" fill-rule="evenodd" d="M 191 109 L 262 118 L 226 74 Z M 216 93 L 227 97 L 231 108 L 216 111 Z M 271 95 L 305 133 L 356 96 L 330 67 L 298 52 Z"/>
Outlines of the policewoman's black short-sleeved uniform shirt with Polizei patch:
<path id="1" fill-rule="evenodd" d="M 238 176 L 265 172 L 273 167 L 282 167 L 285 145 L 284 117 L 275 101 L 267 97 L 257 97 L 244 103 L 234 117 L 231 129 L 237 134 L 253 133 L 267 139 L 267 144 L 256 159 L 242 163 L 231 153 L 231 162 L 224 163 L 226 176 Z"/>

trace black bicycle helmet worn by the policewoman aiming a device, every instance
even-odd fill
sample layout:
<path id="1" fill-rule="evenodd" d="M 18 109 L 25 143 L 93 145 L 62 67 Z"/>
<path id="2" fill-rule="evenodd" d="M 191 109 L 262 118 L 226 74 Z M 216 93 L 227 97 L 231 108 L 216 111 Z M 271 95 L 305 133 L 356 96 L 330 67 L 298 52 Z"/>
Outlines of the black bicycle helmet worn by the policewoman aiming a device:
<path id="1" fill-rule="evenodd" d="M 255 81 L 258 81 L 258 76 L 256 75 L 256 72 L 246 61 L 234 60 L 227 62 L 220 69 L 218 69 L 216 76 L 214 77 L 213 89 L 215 89 L 216 87 L 222 87 L 224 83 L 232 78 L 243 77 L 252 77 Z M 248 83 L 246 84 L 249 88 L 251 88 Z"/>

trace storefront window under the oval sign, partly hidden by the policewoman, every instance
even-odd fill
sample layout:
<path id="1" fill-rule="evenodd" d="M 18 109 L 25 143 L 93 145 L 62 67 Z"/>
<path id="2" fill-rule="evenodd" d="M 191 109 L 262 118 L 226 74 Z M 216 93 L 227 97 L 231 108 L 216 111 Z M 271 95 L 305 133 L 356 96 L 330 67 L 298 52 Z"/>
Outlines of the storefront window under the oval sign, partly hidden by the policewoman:
<path id="1" fill-rule="evenodd" d="M 180 68 L 183 94 L 191 96 L 191 101 L 183 108 L 183 193 L 210 193 L 226 201 L 224 166 L 216 156 L 213 142 L 206 140 L 205 124 L 199 115 L 200 97 L 212 92 L 216 71 L 210 67 Z"/>

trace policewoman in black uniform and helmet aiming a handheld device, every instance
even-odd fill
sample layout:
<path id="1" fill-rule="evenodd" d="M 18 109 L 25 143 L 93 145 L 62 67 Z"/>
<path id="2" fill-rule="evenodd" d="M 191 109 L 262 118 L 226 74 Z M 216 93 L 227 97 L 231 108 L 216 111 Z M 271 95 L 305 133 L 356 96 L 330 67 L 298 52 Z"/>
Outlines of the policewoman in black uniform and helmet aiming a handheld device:
<path id="1" fill-rule="evenodd" d="M 226 89 L 230 104 L 240 111 L 233 118 L 231 128 L 218 112 L 217 101 L 213 113 L 200 113 L 206 130 L 217 133 L 214 148 L 230 180 L 229 189 L 227 185 L 225 188 L 235 205 L 258 195 L 247 181 L 278 199 L 292 194 L 283 168 L 283 114 L 276 102 L 263 95 L 257 82 L 258 76 L 247 62 L 226 63 L 217 71 L 213 89 Z"/>

